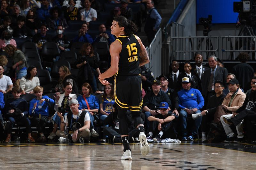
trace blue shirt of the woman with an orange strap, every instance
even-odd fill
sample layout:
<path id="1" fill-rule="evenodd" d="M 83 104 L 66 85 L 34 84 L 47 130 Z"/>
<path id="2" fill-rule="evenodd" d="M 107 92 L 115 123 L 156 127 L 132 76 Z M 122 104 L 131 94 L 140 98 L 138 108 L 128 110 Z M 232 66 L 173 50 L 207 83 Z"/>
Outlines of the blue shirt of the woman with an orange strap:
<path id="1" fill-rule="evenodd" d="M 88 104 L 89 104 L 89 107 L 90 107 L 90 110 L 91 109 L 99 109 L 100 106 L 99 106 L 99 100 L 96 96 L 90 94 L 89 97 L 85 97 Z M 84 100 L 84 97 L 83 96 L 78 96 L 78 98 L 76 99 L 79 103 L 79 110 L 82 110 L 82 109 L 88 109 L 87 107 L 87 104 Z"/>

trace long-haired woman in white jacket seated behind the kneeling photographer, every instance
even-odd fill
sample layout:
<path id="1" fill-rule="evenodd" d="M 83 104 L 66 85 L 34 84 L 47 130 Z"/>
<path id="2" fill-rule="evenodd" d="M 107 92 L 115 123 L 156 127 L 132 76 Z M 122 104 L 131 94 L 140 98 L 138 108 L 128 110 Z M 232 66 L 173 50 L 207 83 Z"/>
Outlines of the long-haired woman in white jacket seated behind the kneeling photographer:
<path id="1" fill-rule="evenodd" d="M 59 107 L 62 107 L 67 112 L 70 112 L 69 101 L 72 99 L 76 99 L 76 94 L 72 94 L 72 85 L 70 82 L 65 82 L 63 85 L 63 93 L 56 93 L 54 110 L 58 111 Z M 56 136 L 57 126 L 60 127 L 60 117 L 57 115 L 57 112 L 52 116 L 52 120 L 54 122 L 53 130 L 50 135 L 47 137 L 52 140 Z"/>

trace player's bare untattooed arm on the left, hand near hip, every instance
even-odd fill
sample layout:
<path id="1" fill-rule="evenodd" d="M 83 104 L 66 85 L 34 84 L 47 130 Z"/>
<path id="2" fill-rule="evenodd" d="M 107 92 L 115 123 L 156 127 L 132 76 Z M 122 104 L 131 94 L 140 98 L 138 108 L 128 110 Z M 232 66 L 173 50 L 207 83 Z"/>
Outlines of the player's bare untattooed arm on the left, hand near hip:
<path id="1" fill-rule="evenodd" d="M 111 56 L 111 63 L 108 70 L 99 75 L 99 80 L 103 85 L 108 85 L 108 81 L 105 78 L 110 78 L 118 71 L 119 54 L 122 50 L 122 45 L 119 41 L 114 41 L 109 47 L 109 53 Z"/>

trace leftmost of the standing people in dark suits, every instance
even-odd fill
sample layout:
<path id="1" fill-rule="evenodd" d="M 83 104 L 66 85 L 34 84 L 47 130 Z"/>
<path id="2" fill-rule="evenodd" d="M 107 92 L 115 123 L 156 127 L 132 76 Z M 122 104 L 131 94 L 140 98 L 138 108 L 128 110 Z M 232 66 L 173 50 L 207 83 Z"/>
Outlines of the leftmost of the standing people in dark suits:
<path id="1" fill-rule="evenodd" d="M 179 63 L 173 60 L 172 73 L 166 76 L 169 79 L 168 87 L 176 90 L 176 92 L 180 91 L 181 89 L 179 85 L 181 84 L 182 72 L 179 71 L 179 67 L 180 67 Z"/>

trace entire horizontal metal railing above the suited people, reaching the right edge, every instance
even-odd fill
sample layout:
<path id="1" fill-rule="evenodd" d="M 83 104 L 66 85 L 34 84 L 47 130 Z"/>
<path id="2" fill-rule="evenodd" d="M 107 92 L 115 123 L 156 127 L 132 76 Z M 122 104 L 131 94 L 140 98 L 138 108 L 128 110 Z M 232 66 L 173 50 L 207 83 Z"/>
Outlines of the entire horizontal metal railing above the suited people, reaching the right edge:
<path id="1" fill-rule="evenodd" d="M 248 52 L 251 59 L 256 56 L 256 36 L 222 37 L 170 37 L 170 57 L 176 60 L 194 60 L 200 53 L 206 60 L 215 55 L 221 60 L 234 60 L 240 52 Z"/>

